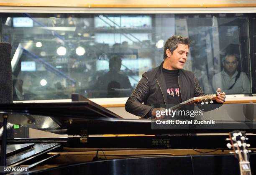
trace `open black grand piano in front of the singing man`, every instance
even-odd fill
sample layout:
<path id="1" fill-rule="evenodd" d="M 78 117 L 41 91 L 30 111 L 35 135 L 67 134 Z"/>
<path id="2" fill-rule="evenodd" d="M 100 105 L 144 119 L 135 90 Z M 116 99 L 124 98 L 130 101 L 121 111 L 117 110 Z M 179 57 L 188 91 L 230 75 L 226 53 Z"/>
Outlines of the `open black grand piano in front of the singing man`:
<path id="1" fill-rule="evenodd" d="M 205 112 L 205 119 L 223 115 L 214 126 L 159 127 L 155 120 L 123 119 L 78 94 L 70 103 L 0 104 L 2 120 L 66 134 L 7 139 L 6 166 L 28 167 L 16 174 L 239 175 L 239 161 L 229 153 L 225 139 L 228 132 L 241 130 L 251 144 L 249 161 L 255 174 L 254 104 L 232 105 Z M 239 107 L 244 114 L 240 120 L 225 116 L 224 108 Z"/>

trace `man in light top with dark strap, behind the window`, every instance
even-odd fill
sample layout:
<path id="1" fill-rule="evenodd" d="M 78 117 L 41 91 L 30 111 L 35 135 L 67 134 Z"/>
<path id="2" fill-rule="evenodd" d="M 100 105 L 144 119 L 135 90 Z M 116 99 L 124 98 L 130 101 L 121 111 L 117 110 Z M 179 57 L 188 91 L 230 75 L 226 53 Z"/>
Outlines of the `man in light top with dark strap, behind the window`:
<path id="1" fill-rule="evenodd" d="M 248 94 L 249 79 L 244 72 L 237 70 L 238 58 L 227 54 L 223 60 L 223 70 L 212 77 L 212 86 L 224 89 L 227 94 Z"/>

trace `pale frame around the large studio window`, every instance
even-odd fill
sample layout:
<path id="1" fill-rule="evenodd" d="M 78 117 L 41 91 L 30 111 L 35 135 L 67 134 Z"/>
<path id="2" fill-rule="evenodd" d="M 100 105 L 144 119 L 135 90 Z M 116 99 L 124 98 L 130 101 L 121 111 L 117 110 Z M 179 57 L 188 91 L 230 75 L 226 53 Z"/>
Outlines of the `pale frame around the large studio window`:
<path id="1" fill-rule="evenodd" d="M 32 6 L 0 6 L 1 13 L 115 13 L 115 14 L 195 14 L 195 13 L 254 13 L 256 14 L 256 7 L 186 7 L 186 8 L 90 8 L 90 7 L 32 7 Z M 252 93 L 256 94 L 256 15 L 249 15 L 248 34 L 249 34 L 249 68 L 251 69 L 251 87 Z M 1 27 L 1 26 L 0 26 Z M 2 33 L 0 33 L 2 35 Z M 1 41 L 0 37 L 0 41 Z M 104 98 L 94 99 L 105 107 L 123 107 L 124 101 L 127 98 Z M 256 97 L 248 97 L 246 95 L 228 95 L 229 101 L 243 101 L 243 100 L 256 100 Z M 70 99 L 61 100 L 36 100 L 36 102 L 54 101 L 64 102 Z M 23 102 L 23 101 L 17 101 Z M 30 100 L 24 102 L 32 102 Z M 35 102 L 35 101 L 33 101 Z M 104 105 L 105 104 L 105 105 Z"/>

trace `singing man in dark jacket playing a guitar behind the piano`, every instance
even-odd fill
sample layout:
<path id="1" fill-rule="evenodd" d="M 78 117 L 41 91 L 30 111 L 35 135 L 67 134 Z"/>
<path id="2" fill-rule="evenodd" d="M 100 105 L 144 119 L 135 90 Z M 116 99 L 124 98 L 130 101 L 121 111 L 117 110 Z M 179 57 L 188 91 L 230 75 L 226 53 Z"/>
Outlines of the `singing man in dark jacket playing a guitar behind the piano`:
<path id="1" fill-rule="evenodd" d="M 169 108 L 195 96 L 204 95 L 195 75 L 182 68 L 187 61 L 190 41 L 172 36 L 164 45 L 164 62 L 142 75 L 128 98 L 125 109 L 139 117 L 156 117 L 156 111 Z M 220 91 L 220 89 L 217 89 Z M 218 93 L 216 102 L 223 103 L 225 93 Z M 143 104 L 142 104 L 143 103 Z"/>

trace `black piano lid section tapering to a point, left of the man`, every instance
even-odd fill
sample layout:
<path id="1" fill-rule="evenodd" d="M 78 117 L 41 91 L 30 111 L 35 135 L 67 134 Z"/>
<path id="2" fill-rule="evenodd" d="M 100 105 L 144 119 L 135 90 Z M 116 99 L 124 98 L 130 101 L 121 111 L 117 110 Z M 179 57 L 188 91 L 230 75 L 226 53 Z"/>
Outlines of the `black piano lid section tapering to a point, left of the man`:
<path id="1" fill-rule="evenodd" d="M 61 103 L 13 103 L 0 104 L 0 113 L 35 114 L 51 117 L 76 117 L 86 119 L 122 118 L 110 110 L 85 99 Z"/>

